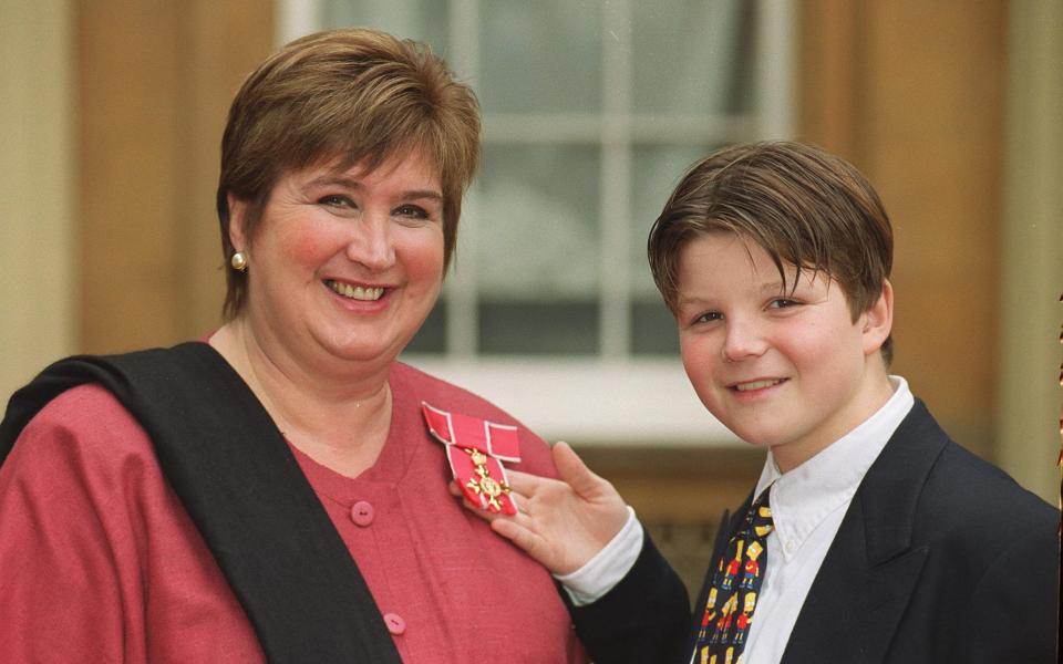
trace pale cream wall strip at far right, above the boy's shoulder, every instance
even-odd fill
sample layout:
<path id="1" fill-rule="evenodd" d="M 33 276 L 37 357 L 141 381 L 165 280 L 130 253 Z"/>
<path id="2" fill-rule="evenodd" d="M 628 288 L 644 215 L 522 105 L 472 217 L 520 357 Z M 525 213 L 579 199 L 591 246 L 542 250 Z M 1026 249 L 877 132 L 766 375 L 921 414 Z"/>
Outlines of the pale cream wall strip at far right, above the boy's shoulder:
<path id="1" fill-rule="evenodd" d="M 1004 212 L 1001 218 L 999 460 L 1057 504 L 1063 423 L 1063 3 L 1009 13 Z"/>

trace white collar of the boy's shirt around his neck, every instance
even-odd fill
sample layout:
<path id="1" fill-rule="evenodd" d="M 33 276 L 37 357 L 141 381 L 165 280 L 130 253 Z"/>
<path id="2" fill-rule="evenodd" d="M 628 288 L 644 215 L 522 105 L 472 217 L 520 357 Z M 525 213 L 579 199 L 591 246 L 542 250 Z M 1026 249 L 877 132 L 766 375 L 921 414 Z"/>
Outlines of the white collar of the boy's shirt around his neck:
<path id="1" fill-rule="evenodd" d="M 915 405 L 908 382 L 889 376 L 894 394 L 881 408 L 801 466 L 780 473 L 771 450 L 754 496 L 771 490 L 772 520 L 789 560 L 824 519 L 848 505 L 868 468 Z"/>

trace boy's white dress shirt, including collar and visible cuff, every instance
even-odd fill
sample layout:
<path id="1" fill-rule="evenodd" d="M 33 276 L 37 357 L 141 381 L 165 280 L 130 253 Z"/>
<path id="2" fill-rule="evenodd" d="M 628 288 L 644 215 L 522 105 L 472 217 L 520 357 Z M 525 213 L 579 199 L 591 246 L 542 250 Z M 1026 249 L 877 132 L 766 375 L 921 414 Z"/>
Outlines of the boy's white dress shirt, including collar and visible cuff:
<path id="1" fill-rule="evenodd" d="M 774 664 L 782 658 L 808 589 L 856 489 L 915 405 L 907 381 L 900 376 L 889 376 L 889 381 L 894 394 L 881 408 L 801 466 L 780 473 L 768 452 L 753 495 L 760 496 L 771 487 L 775 529 L 767 536 L 767 566 L 743 664 Z M 627 523 L 605 549 L 579 570 L 557 579 L 577 606 L 589 604 L 609 592 L 634 566 L 641 541 L 642 527 L 629 508 Z M 694 606 L 699 618 L 703 610 Z"/>

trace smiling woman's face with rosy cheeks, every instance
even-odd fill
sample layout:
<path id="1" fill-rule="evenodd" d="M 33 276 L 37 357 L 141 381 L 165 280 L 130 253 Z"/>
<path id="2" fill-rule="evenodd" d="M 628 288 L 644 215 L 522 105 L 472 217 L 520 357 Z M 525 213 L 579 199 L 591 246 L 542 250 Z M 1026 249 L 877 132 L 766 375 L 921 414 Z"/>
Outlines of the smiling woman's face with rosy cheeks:
<path id="1" fill-rule="evenodd" d="M 260 343 L 305 370 L 390 363 L 424 322 L 443 281 L 443 190 L 416 152 L 365 173 L 334 163 L 286 173 L 248 242 L 246 318 Z M 334 367 L 334 365 L 331 365 Z"/>

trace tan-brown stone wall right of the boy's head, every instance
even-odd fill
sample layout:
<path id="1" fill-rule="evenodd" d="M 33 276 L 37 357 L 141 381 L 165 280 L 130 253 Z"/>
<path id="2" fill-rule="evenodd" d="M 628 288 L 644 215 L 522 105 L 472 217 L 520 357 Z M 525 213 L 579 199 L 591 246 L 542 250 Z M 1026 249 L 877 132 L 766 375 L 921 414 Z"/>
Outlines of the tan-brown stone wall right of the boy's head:
<path id="1" fill-rule="evenodd" d="M 802 138 L 852 159 L 894 225 L 894 370 L 992 456 L 1005 4 L 802 7 Z"/>

